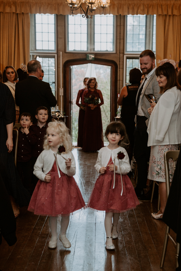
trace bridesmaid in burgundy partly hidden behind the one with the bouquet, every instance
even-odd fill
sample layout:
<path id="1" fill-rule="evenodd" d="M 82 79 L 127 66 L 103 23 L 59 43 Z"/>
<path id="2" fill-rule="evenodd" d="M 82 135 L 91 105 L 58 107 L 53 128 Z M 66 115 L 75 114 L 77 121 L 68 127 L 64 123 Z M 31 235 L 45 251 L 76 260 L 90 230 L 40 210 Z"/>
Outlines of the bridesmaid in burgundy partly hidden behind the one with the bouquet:
<path id="1" fill-rule="evenodd" d="M 83 144 L 83 129 L 84 129 L 84 117 L 85 117 L 85 107 L 82 106 L 82 95 L 85 89 L 87 89 L 87 80 L 89 79 L 89 77 L 85 77 L 84 78 L 84 89 L 80 89 L 78 91 L 78 95 L 77 95 L 77 100 L 76 100 L 76 104 L 78 107 L 80 107 L 79 109 L 79 115 L 78 115 L 78 139 L 77 139 L 77 146 L 82 148 L 82 144 Z M 79 104 L 79 100 L 81 98 L 81 103 Z"/>

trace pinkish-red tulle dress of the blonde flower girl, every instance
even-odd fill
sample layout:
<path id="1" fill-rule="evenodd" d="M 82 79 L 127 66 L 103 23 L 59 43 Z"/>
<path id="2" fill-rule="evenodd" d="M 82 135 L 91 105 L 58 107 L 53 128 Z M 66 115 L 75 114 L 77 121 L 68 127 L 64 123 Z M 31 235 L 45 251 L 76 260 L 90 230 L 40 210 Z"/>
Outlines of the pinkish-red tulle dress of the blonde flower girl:
<path id="1" fill-rule="evenodd" d="M 54 162 L 50 174 L 51 181 L 37 182 L 28 211 L 42 216 L 68 216 L 86 208 L 73 176 L 68 176 L 61 170 L 60 175 L 59 178 L 56 162 Z"/>

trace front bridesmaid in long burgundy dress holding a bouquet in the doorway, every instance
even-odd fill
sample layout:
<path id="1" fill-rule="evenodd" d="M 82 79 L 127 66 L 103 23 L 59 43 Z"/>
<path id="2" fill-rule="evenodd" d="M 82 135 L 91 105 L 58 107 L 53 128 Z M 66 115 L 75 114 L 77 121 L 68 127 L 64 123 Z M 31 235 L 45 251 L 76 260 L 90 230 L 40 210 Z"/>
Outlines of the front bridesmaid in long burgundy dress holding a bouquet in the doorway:
<path id="1" fill-rule="evenodd" d="M 97 105 L 87 104 L 84 102 L 85 98 L 90 95 L 100 98 L 100 103 Z M 99 89 L 97 89 L 96 78 L 90 77 L 87 81 L 87 90 L 84 90 L 82 97 L 82 104 L 86 106 L 85 118 L 84 118 L 84 132 L 83 132 L 83 151 L 99 151 L 104 147 L 102 140 L 103 126 L 100 106 L 104 104 L 103 95 Z"/>

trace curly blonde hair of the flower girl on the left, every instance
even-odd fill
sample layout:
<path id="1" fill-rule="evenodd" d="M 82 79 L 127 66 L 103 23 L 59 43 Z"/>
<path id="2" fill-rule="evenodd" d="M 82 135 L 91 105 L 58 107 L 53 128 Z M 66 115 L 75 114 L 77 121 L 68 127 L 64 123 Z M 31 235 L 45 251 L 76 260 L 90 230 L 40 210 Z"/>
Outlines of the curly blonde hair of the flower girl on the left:
<path id="1" fill-rule="evenodd" d="M 44 150 L 49 150 L 51 147 L 49 146 L 48 143 L 48 129 L 51 128 L 53 129 L 55 132 L 57 132 L 59 134 L 60 137 L 60 144 L 63 144 L 65 147 L 65 153 L 67 153 L 68 151 L 72 151 L 74 146 L 72 145 L 71 142 L 71 138 L 69 135 L 69 130 L 66 127 L 65 123 L 62 121 L 53 121 L 53 122 L 49 122 L 48 127 L 46 129 L 46 136 L 45 136 L 45 141 L 43 144 L 43 149 Z"/>

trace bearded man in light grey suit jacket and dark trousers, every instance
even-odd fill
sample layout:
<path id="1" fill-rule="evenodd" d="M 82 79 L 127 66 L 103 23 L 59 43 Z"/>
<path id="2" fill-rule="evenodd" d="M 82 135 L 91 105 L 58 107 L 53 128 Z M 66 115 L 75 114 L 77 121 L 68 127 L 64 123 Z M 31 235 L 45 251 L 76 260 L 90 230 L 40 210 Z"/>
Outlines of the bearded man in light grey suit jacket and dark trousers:
<path id="1" fill-rule="evenodd" d="M 150 160 L 150 148 L 148 147 L 148 133 L 147 126 L 150 115 L 148 114 L 148 108 L 150 103 L 144 94 L 153 94 L 156 101 L 159 100 L 161 94 L 160 87 L 157 83 L 157 76 L 155 75 L 155 55 L 151 50 L 144 50 L 140 54 L 140 69 L 145 74 L 136 96 L 136 117 L 135 117 L 135 145 L 133 154 L 137 162 L 138 168 L 138 180 L 135 187 L 135 192 L 138 198 L 147 200 L 150 197 L 144 195 L 144 188 L 147 183 L 147 162 Z"/>

